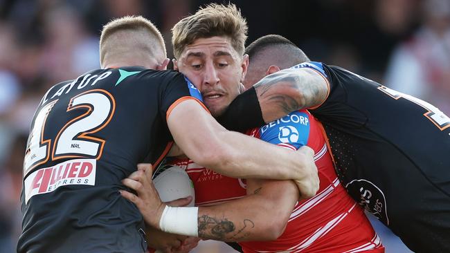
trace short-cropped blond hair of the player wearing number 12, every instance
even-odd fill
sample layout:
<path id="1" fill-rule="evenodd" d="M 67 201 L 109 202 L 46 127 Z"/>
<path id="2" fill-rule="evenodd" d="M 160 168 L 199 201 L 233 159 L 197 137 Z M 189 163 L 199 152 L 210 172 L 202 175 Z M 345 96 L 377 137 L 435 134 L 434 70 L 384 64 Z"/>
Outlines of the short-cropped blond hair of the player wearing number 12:
<path id="1" fill-rule="evenodd" d="M 121 32 L 126 34 L 120 35 Z M 142 16 L 125 16 L 103 26 L 100 35 L 100 63 L 108 53 L 120 54 L 136 49 L 143 49 L 152 55 L 158 52 L 163 53 L 164 57 L 167 55 L 163 36 L 150 20 Z"/>

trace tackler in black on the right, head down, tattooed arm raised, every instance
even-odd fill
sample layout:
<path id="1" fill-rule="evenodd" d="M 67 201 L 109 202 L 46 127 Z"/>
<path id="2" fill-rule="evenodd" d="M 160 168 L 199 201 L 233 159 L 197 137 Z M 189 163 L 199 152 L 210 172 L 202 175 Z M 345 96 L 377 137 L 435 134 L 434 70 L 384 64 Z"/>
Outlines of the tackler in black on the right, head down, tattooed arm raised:
<path id="1" fill-rule="evenodd" d="M 411 250 L 450 252 L 447 115 L 343 68 L 309 62 L 302 50 L 279 35 L 257 39 L 246 53 L 244 85 L 256 83 L 247 93 L 257 93 L 264 103 L 264 121 L 309 109 L 323 124 L 348 193 Z M 273 100 L 280 88 L 291 90 L 290 95 Z M 270 103 L 273 106 L 267 106 Z M 228 109 L 244 105 L 255 106 L 238 97 Z M 264 108 L 270 110 L 264 113 Z M 246 118 L 245 113 L 239 118 Z"/>

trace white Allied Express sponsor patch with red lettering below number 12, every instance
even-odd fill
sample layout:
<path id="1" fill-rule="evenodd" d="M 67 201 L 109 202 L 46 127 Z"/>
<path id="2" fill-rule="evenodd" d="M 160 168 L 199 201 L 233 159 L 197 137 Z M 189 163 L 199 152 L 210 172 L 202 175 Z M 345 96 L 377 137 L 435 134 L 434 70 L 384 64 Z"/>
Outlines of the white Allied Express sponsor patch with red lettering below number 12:
<path id="1" fill-rule="evenodd" d="M 95 159 L 75 159 L 34 171 L 24 182 L 25 203 L 35 195 L 47 194 L 60 186 L 95 185 L 96 162 Z"/>

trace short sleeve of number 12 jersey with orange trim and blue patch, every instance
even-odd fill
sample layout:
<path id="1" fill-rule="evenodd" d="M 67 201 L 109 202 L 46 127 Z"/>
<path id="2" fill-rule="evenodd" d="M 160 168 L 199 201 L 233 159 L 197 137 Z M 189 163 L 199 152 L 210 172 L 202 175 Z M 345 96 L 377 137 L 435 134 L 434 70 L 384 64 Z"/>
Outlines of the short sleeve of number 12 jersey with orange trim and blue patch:
<path id="1" fill-rule="evenodd" d="M 170 112 L 184 100 L 195 100 L 208 111 L 203 104 L 200 91 L 195 88 L 194 84 L 187 77 L 178 73 L 163 88 L 160 99 L 160 113 L 165 120 L 169 117 Z"/>

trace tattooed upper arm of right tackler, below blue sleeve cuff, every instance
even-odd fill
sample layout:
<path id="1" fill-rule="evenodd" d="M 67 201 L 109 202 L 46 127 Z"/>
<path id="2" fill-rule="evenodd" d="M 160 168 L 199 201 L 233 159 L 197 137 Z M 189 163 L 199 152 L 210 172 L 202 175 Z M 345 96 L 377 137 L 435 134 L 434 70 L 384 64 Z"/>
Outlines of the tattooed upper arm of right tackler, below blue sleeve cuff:
<path id="1" fill-rule="evenodd" d="M 266 123 L 292 111 L 318 106 L 328 93 L 327 81 L 311 68 L 287 68 L 267 75 L 254 87 Z"/>

